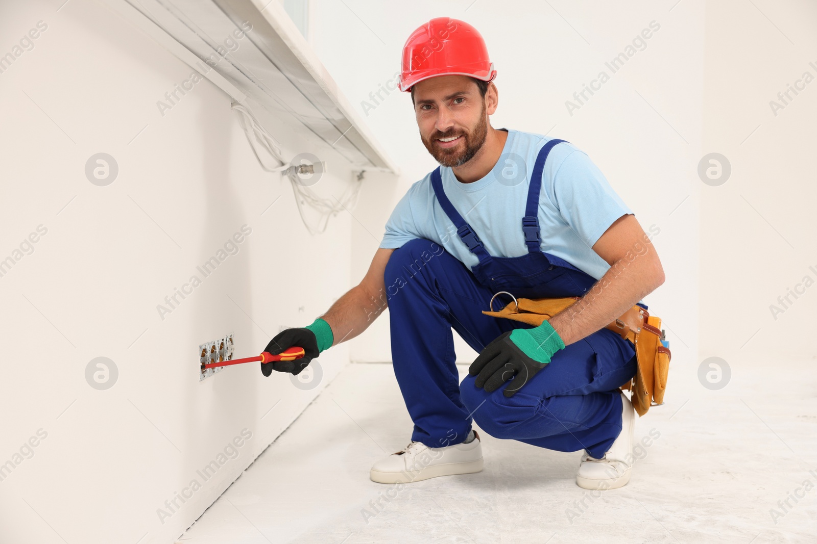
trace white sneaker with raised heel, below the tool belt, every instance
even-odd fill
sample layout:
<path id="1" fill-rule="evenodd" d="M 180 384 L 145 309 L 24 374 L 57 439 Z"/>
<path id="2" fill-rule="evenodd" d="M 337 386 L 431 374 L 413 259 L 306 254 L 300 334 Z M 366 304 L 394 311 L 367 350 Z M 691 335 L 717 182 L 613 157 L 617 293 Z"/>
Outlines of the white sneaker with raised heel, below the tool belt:
<path id="1" fill-rule="evenodd" d="M 584 489 L 616 489 L 627 485 L 632 472 L 632 434 L 636 427 L 632 402 L 621 394 L 623 405 L 621 414 L 621 434 L 600 459 L 582 456 L 578 465 L 576 484 Z"/>

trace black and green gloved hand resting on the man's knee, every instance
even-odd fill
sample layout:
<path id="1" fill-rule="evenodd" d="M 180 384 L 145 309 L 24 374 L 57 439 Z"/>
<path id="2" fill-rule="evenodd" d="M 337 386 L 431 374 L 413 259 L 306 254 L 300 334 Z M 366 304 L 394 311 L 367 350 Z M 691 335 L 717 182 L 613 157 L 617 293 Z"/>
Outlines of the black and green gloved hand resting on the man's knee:
<path id="1" fill-rule="evenodd" d="M 512 379 L 514 382 L 505 387 L 503 394 L 514 396 L 564 347 L 565 343 L 547 321 L 534 329 L 514 329 L 485 346 L 471 363 L 468 374 L 476 376 L 476 387 L 484 387 L 488 392 Z"/>

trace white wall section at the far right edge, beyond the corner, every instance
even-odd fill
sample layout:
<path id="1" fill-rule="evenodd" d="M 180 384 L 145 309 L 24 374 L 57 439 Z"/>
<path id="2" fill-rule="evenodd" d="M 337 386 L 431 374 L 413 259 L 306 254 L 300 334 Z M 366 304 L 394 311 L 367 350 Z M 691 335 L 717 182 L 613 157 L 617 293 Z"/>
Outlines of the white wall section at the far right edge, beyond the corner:
<path id="1" fill-rule="evenodd" d="M 702 187 L 701 356 L 733 373 L 817 358 L 817 5 L 755 3 L 707 5 L 704 152 L 732 173 Z"/>

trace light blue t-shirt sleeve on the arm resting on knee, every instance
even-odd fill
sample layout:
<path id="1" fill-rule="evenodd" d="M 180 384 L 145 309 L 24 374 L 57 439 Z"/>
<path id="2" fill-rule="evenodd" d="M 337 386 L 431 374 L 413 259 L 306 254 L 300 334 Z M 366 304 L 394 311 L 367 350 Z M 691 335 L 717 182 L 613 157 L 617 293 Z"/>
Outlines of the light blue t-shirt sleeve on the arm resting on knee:
<path id="1" fill-rule="evenodd" d="M 590 157 L 578 150 L 565 157 L 556 170 L 552 192 L 562 219 L 587 247 L 592 247 L 616 219 L 633 213 Z"/>

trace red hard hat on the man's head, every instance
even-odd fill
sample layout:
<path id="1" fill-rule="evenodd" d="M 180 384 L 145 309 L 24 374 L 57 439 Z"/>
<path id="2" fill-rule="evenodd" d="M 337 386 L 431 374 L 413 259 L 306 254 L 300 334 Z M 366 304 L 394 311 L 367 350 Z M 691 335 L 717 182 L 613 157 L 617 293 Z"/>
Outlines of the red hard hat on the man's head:
<path id="1" fill-rule="evenodd" d="M 437 17 L 411 33 L 403 46 L 400 91 L 429 77 L 459 74 L 489 82 L 497 77 L 482 35 L 465 21 Z"/>

